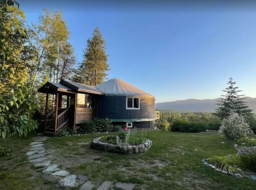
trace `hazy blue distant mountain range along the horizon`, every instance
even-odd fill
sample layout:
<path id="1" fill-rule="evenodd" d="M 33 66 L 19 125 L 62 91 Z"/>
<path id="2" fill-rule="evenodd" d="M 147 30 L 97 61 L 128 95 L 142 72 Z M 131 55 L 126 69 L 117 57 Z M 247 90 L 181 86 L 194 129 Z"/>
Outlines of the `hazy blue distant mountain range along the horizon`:
<path id="1" fill-rule="evenodd" d="M 256 98 L 245 97 L 247 98 L 247 105 L 250 109 L 253 110 L 253 113 L 256 113 Z M 193 111 L 202 111 L 202 112 L 215 112 L 215 108 L 217 108 L 217 99 L 205 99 L 205 100 L 198 100 L 198 99 L 188 99 L 188 100 L 178 100 L 178 101 L 168 101 L 168 102 L 161 102 L 156 103 L 156 108 L 159 111 L 169 111 L 170 112 L 193 112 Z"/>

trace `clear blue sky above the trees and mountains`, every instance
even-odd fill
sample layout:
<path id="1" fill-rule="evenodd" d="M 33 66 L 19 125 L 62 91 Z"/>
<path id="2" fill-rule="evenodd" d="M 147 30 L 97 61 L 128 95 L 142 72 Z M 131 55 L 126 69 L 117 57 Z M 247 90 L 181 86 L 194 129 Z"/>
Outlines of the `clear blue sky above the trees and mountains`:
<path id="1" fill-rule="evenodd" d="M 27 24 L 37 23 L 43 7 L 62 9 L 77 62 L 98 26 L 109 77 L 156 102 L 219 98 L 230 76 L 245 96 L 256 97 L 255 4 L 157 2 L 19 1 Z"/>

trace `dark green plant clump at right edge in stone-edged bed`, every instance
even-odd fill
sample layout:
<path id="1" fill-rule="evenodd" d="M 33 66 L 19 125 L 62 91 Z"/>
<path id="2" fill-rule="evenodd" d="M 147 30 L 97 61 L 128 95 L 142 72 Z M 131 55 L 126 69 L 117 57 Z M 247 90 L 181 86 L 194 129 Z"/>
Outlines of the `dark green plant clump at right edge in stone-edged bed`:
<path id="1" fill-rule="evenodd" d="M 238 154 L 244 167 L 256 171 L 256 146 L 240 146 L 238 148 Z"/>

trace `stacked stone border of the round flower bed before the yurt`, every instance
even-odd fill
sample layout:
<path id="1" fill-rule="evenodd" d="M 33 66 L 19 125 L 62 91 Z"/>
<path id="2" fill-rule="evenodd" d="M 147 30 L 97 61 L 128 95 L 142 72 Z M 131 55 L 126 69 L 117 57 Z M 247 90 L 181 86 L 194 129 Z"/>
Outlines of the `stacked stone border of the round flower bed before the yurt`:
<path id="1" fill-rule="evenodd" d="M 102 150 L 105 152 L 114 152 L 117 154 L 138 154 L 141 152 L 147 152 L 153 145 L 152 141 L 146 140 L 144 143 L 139 145 L 119 146 L 116 144 L 100 142 L 102 137 L 103 136 L 93 139 L 93 141 L 91 142 L 91 148 Z"/>

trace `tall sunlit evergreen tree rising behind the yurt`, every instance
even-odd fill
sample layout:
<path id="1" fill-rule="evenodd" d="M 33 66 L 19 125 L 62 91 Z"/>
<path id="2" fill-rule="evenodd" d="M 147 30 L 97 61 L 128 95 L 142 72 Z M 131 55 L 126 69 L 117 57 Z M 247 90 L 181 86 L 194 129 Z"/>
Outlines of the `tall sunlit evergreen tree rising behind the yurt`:
<path id="1" fill-rule="evenodd" d="M 97 85 L 108 79 L 108 55 L 106 55 L 106 42 L 102 37 L 99 27 L 96 27 L 92 33 L 92 38 L 87 40 L 86 49 L 83 51 L 83 62 L 81 65 L 81 75 L 84 77 L 84 83 L 88 85 Z M 82 78 L 83 80 L 83 78 Z"/>

